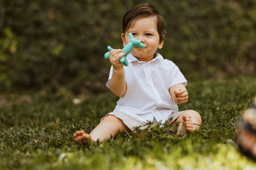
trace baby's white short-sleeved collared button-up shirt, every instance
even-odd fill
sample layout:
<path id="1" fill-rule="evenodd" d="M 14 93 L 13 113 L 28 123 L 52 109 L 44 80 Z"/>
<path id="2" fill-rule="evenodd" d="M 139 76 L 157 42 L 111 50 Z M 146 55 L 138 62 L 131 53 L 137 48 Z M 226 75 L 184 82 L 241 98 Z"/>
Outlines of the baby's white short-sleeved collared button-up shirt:
<path id="1" fill-rule="evenodd" d="M 129 65 L 124 66 L 124 77 L 127 90 L 120 96 L 114 111 L 132 115 L 143 122 L 164 123 L 172 112 L 178 112 L 177 104 L 172 101 L 169 88 L 187 81 L 170 60 L 164 59 L 159 53 L 153 60 L 145 63 L 135 56 L 127 55 Z M 108 87 L 113 74 L 113 66 L 106 86 Z"/>

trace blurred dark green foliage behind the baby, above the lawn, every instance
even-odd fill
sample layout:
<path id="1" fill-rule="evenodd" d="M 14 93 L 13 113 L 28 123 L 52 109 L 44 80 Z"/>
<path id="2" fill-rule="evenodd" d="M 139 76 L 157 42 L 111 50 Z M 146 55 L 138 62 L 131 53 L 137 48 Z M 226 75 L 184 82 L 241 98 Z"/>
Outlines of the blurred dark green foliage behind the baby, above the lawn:
<path id="1" fill-rule="evenodd" d="M 255 0 L 0 0 L 0 91 L 104 90 L 106 47 L 122 47 L 122 16 L 143 2 L 165 20 L 159 52 L 188 79 L 255 75 Z"/>

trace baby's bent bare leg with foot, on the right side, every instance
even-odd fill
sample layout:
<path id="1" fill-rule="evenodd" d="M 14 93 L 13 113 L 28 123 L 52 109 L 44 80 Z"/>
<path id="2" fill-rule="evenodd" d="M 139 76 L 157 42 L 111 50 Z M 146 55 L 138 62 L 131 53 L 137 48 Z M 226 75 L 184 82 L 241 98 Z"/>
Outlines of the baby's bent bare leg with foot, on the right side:
<path id="1" fill-rule="evenodd" d="M 185 133 L 193 133 L 202 124 L 201 116 L 194 110 L 186 110 L 176 120 L 178 123 L 177 136 Z"/>

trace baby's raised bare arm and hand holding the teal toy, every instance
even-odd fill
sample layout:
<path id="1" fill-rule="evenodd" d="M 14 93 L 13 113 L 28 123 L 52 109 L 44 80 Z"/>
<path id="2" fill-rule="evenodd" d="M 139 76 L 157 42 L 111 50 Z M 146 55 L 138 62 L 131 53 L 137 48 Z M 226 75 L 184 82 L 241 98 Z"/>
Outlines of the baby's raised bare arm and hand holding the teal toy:
<path id="1" fill-rule="evenodd" d="M 113 74 L 110 80 L 110 91 L 116 96 L 123 96 L 126 93 L 126 80 L 124 79 L 124 64 L 120 58 L 126 55 L 121 49 L 110 52 L 110 63 L 113 66 Z"/>

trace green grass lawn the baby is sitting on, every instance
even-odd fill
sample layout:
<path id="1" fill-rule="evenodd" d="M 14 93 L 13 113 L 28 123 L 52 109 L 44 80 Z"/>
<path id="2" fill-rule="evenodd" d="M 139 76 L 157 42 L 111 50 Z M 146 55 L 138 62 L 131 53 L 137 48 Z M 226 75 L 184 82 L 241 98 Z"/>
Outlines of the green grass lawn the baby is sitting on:
<path id="1" fill-rule="evenodd" d="M 176 137 L 154 128 L 116 136 L 103 144 L 78 145 L 72 134 L 89 133 L 118 98 L 111 93 L 82 100 L 33 96 L 32 102 L 0 107 L 0 169 L 256 169 L 236 145 L 236 123 L 256 95 L 255 77 L 204 80 L 187 86 L 202 116 L 201 129 Z"/>

